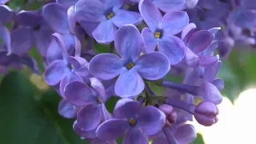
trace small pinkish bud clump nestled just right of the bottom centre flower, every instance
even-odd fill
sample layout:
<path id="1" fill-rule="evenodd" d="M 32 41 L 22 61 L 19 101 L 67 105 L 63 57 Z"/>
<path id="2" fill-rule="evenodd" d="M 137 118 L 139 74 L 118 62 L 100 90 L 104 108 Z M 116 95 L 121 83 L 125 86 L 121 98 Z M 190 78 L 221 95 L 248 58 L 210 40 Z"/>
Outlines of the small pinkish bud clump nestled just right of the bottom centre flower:
<path id="1" fill-rule="evenodd" d="M 162 104 L 158 107 L 159 110 L 162 110 L 164 114 L 166 114 L 166 125 L 170 126 L 172 123 L 176 122 L 177 113 L 174 111 L 173 106 Z"/>

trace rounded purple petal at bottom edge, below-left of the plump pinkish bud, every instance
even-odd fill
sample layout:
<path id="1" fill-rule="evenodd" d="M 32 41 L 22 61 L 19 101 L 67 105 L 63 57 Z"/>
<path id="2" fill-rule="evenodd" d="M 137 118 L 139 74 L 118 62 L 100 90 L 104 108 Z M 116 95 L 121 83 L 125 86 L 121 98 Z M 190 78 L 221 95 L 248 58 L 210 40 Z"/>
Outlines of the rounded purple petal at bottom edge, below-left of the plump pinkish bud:
<path id="1" fill-rule="evenodd" d="M 174 129 L 173 134 L 174 138 L 179 143 L 190 143 L 197 138 L 197 131 L 195 130 L 194 126 L 190 124 L 178 126 L 176 129 Z"/>

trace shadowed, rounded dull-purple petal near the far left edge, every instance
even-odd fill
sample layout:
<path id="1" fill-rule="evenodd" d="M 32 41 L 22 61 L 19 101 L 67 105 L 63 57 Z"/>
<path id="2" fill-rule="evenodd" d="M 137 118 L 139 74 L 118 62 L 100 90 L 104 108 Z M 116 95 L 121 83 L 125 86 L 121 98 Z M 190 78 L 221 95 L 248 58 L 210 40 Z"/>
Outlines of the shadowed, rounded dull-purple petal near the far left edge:
<path id="1" fill-rule="evenodd" d="M 33 31 L 29 28 L 18 28 L 11 33 L 11 49 L 22 55 L 33 46 Z"/>

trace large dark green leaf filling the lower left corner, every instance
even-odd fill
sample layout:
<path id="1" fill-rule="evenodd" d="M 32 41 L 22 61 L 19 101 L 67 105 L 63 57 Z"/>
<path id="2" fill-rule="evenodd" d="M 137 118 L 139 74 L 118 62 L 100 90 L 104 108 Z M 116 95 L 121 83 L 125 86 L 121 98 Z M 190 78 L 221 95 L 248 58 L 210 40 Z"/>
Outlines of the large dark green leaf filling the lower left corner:
<path id="1" fill-rule="evenodd" d="M 23 74 L 11 72 L 3 79 L 0 94 L 0 143 L 86 143 L 74 134 L 74 120 L 58 114 L 60 98 L 54 90 L 40 95 Z"/>

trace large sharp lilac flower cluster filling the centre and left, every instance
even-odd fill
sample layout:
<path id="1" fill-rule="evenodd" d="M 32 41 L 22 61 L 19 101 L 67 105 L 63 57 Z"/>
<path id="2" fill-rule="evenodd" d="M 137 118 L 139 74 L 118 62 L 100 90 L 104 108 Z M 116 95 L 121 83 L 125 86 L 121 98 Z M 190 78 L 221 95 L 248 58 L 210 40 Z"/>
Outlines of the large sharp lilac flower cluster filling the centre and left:
<path id="1" fill-rule="evenodd" d="M 224 88 L 216 78 L 222 62 L 214 55 L 223 30 L 197 22 L 201 15 L 193 14 L 226 1 L 202 0 L 192 9 L 197 2 L 57 0 L 14 12 L 0 1 L 0 72 L 26 65 L 39 74 L 27 54 L 36 46 L 46 83 L 62 97 L 58 113 L 76 118 L 73 128 L 81 138 L 101 144 L 122 135 L 124 144 L 190 143 L 197 134 L 186 121 L 194 116 L 203 126 L 218 122 Z M 220 14 L 222 19 L 226 13 Z M 98 54 L 96 43 L 109 45 L 110 52 Z M 181 75 L 182 82 L 168 75 Z M 153 85 L 166 91 L 156 94 Z M 112 114 L 105 106 L 111 96 L 120 98 Z"/>

